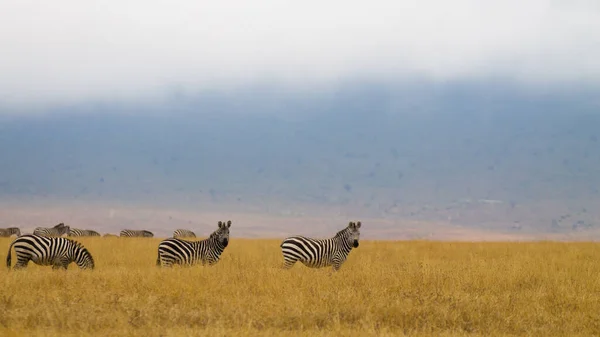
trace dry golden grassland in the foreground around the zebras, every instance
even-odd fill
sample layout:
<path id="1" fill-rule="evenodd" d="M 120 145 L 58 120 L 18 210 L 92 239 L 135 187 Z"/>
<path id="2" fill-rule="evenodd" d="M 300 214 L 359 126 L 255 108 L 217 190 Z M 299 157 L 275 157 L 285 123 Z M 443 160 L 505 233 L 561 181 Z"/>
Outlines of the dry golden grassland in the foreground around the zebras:
<path id="1" fill-rule="evenodd" d="M 80 241 L 93 271 L 0 269 L 1 336 L 600 334 L 596 243 L 362 241 L 332 273 L 282 270 L 281 240 L 172 270 L 159 239 Z"/>

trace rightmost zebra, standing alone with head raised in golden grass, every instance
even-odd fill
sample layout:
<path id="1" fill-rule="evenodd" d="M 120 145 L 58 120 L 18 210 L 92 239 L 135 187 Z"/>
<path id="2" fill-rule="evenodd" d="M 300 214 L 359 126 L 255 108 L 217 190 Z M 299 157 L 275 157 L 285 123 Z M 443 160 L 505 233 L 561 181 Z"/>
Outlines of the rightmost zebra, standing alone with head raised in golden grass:
<path id="1" fill-rule="evenodd" d="M 281 243 L 284 268 L 289 269 L 297 261 L 310 268 L 333 266 L 337 271 L 346 261 L 352 248 L 358 247 L 360 221 L 350 222 L 348 227 L 337 232 L 331 239 L 311 239 L 304 236 L 292 236 Z"/>

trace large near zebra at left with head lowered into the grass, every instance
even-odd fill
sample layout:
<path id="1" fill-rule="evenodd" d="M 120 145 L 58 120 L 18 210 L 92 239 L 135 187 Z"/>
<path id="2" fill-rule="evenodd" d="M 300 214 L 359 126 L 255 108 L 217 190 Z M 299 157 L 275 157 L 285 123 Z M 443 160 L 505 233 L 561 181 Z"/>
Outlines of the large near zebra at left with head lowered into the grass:
<path id="1" fill-rule="evenodd" d="M 11 248 L 15 247 L 17 263 L 14 269 L 27 267 L 29 260 L 41 266 L 52 266 L 52 269 L 67 269 L 75 262 L 81 269 L 94 269 L 94 259 L 81 243 L 67 239 L 45 237 L 39 235 L 23 235 L 8 247 L 6 266 L 10 269 Z"/>

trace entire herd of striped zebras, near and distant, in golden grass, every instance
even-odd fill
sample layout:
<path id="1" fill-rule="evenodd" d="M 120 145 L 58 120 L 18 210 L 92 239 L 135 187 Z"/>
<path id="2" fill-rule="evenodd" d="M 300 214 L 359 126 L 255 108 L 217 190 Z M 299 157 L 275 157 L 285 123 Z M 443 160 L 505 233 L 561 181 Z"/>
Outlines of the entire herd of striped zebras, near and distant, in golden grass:
<path id="1" fill-rule="evenodd" d="M 186 241 L 181 238 L 196 237 L 190 230 L 178 229 L 173 236 L 162 240 L 158 245 L 156 265 L 171 267 L 175 264 L 192 266 L 195 264 L 214 265 L 229 244 L 229 228 L 231 220 L 219 221 L 217 229 L 207 239 L 201 241 Z M 340 269 L 346 261 L 352 248 L 358 248 L 361 222 L 350 222 L 348 226 L 330 239 L 313 239 L 304 236 L 291 236 L 280 245 L 283 254 L 283 268 L 289 269 L 296 262 L 301 262 L 309 268 L 331 266 L 334 271 Z M 16 235 L 8 248 L 6 265 L 11 267 L 11 251 L 14 247 L 17 262 L 14 269 L 27 267 L 29 261 L 42 266 L 52 266 L 53 269 L 67 269 L 75 262 L 81 269 L 94 269 L 94 259 L 90 252 L 79 242 L 61 237 L 100 236 L 93 230 L 70 228 L 60 223 L 51 228 L 38 227 L 33 234 L 21 235 L 19 228 L 0 228 L 0 237 Z M 115 236 L 109 234 L 110 236 Z M 105 235 L 106 237 L 107 235 Z M 147 230 L 124 229 L 121 237 L 154 237 Z"/>

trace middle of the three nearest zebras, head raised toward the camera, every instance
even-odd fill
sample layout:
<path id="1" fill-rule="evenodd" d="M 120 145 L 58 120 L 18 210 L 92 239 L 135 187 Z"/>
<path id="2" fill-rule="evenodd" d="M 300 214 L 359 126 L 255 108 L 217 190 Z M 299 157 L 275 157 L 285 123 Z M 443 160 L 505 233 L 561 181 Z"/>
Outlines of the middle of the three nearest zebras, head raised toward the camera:
<path id="1" fill-rule="evenodd" d="M 214 265 L 219 262 L 221 253 L 229 244 L 231 220 L 219 221 L 219 228 L 208 239 L 185 241 L 176 238 L 163 240 L 158 245 L 157 266 L 171 267 L 174 264 L 191 266 L 198 262 L 202 265 Z"/>

